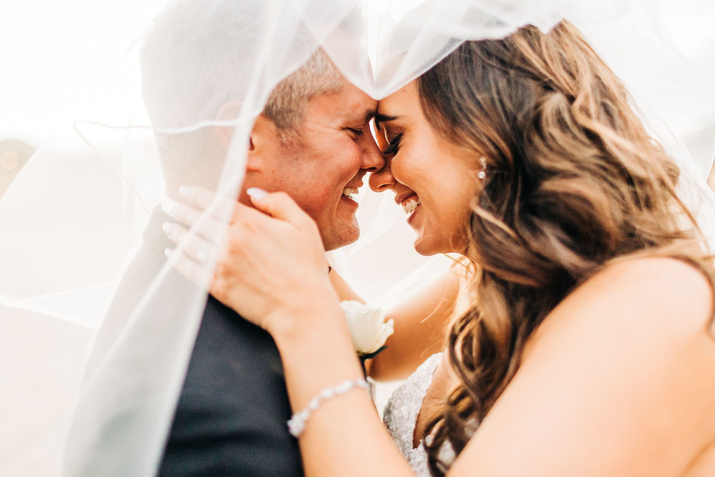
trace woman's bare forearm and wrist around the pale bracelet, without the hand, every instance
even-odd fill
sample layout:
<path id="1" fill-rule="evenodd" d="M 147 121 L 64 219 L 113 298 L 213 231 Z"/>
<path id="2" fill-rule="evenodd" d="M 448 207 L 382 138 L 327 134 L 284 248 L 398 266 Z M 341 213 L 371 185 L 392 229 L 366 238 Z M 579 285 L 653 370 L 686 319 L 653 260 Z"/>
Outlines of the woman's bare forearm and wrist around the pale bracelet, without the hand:
<path id="1" fill-rule="evenodd" d="M 292 317 L 277 320 L 300 326 L 272 330 L 295 413 L 321 390 L 363 376 L 335 297 L 326 295 L 314 303 L 321 306 L 295 310 Z M 298 443 L 306 477 L 414 476 L 370 396 L 360 388 L 323 401 Z"/>

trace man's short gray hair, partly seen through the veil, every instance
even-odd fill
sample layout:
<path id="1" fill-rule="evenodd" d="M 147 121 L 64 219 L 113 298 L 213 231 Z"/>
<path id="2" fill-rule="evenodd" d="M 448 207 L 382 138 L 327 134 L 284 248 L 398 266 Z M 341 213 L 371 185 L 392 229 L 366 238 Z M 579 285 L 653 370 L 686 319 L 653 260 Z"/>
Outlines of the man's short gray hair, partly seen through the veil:
<path id="1" fill-rule="evenodd" d="M 175 0 L 157 16 L 139 58 L 142 98 L 154 127 L 187 127 L 210 121 L 226 102 L 245 100 L 248 85 L 257 80 L 257 54 L 263 45 L 256 42 L 262 41 L 265 33 L 263 8 L 263 0 Z M 315 48 L 307 31 L 287 41 L 287 62 L 294 60 L 291 56 L 296 53 L 306 57 Z M 343 81 L 325 51 L 318 48 L 275 86 L 263 114 L 282 131 L 295 132 L 302 124 L 307 102 L 339 91 Z M 177 164 L 182 159 L 200 159 L 189 154 L 200 154 L 197 146 L 200 149 L 211 129 L 155 134 L 164 172 L 167 166 L 187 167 Z"/>

